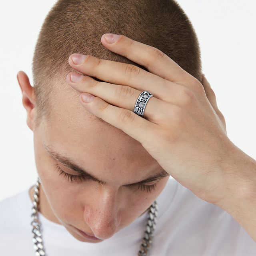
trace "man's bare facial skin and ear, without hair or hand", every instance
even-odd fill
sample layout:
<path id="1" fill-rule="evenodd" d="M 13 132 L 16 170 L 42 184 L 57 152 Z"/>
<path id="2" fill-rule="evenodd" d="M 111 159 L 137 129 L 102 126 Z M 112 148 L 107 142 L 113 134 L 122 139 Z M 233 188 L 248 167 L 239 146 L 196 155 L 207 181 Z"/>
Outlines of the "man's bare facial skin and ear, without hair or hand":
<path id="1" fill-rule="evenodd" d="M 50 121 L 42 119 L 34 129 L 33 88 L 23 72 L 19 73 L 18 81 L 24 89 L 28 125 L 34 130 L 36 167 L 42 184 L 40 212 L 65 226 L 76 239 L 93 243 L 110 238 L 144 213 L 162 192 L 169 175 L 145 183 L 148 187 L 156 184 L 152 192 L 137 185 L 124 186 L 163 170 L 142 145 L 113 126 L 85 118 L 85 112 L 77 113 L 73 102 L 62 106 L 58 115 L 52 114 Z M 56 105 L 61 105 L 64 97 L 68 98 L 66 92 L 62 93 Z M 105 184 L 90 179 L 70 182 L 60 175 L 56 164 L 68 174 L 79 174 L 61 164 L 48 151 L 70 158 Z M 30 194 L 32 197 L 33 189 Z M 84 237 L 79 230 L 99 239 Z"/>

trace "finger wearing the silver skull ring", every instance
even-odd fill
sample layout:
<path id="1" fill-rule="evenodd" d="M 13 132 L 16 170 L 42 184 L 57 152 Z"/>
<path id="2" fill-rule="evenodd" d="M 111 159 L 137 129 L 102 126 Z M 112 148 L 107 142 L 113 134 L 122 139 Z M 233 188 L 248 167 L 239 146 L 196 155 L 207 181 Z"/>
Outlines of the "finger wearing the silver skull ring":
<path id="1" fill-rule="evenodd" d="M 74 72 L 68 74 L 67 82 L 78 92 L 90 93 L 94 96 L 102 98 L 111 105 L 125 108 L 132 112 L 134 111 L 136 101 L 141 94 L 141 91 L 130 86 L 99 82 L 90 76 L 83 76 Z M 166 108 L 164 108 L 162 105 L 161 100 L 151 97 L 146 104 L 144 117 L 151 122 L 158 122 L 158 120 L 164 118 L 165 115 L 163 110 Z M 159 111 L 161 106 L 162 111 Z M 158 113 L 157 116 L 156 113 Z"/>

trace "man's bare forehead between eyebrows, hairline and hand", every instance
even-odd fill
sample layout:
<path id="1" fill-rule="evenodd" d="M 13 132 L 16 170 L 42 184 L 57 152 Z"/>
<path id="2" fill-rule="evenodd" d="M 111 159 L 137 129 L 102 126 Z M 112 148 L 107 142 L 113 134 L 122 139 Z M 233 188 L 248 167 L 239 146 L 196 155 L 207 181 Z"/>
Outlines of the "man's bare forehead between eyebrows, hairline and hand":
<path id="1" fill-rule="evenodd" d="M 48 148 L 93 170 L 98 177 L 108 173 L 108 178 L 116 178 L 118 173 L 125 178 L 146 170 L 145 175 L 142 173 L 138 177 L 141 180 L 150 172 L 161 169 L 140 142 L 96 119 L 80 105 L 78 96 L 72 97 L 72 101 L 66 100 L 66 104 L 58 98 L 55 106 L 40 129 L 43 143 Z"/>

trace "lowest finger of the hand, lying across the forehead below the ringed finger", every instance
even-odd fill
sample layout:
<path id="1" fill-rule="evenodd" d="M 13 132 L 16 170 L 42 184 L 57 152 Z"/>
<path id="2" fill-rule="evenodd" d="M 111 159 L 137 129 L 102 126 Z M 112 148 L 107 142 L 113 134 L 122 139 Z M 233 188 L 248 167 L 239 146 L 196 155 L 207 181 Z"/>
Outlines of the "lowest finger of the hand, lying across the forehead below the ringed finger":
<path id="1" fill-rule="evenodd" d="M 149 122 L 130 110 L 112 106 L 91 94 L 82 93 L 79 100 L 89 112 L 119 128 L 142 145 L 148 142 L 156 130 L 157 124 Z"/>

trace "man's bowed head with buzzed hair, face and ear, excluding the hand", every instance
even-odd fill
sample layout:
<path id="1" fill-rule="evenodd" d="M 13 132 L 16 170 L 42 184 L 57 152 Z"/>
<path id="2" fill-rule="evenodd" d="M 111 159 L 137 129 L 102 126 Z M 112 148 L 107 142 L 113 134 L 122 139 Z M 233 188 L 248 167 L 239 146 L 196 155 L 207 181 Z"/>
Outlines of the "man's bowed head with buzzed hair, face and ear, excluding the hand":
<path id="1" fill-rule="evenodd" d="M 138 141 L 89 114 L 66 84 L 72 53 L 130 62 L 101 45 L 104 33 L 154 46 L 201 79 L 194 30 L 171 0 L 60 0 L 50 11 L 34 54 L 34 88 L 24 73 L 19 82 L 34 130 L 40 210 L 85 242 L 100 240 L 83 232 L 106 239 L 129 225 L 168 180 Z"/>

